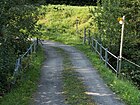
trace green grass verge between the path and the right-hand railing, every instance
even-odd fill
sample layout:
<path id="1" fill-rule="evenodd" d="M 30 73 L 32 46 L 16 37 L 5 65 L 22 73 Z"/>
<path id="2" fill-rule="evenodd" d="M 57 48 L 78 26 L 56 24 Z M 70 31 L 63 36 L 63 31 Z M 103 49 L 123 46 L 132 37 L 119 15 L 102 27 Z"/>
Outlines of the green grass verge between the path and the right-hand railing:
<path id="1" fill-rule="evenodd" d="M 105 67 L 98 55 L 91 51 L 89 46 L 76 45 L 92 62 L 99 71 L 106 84 L 127 104 L 140 105 L 140 91 L 132 83 L 124 78 L 117 78 L 112 71 Z"/>

